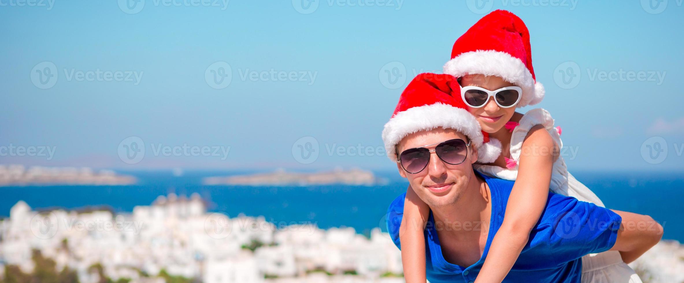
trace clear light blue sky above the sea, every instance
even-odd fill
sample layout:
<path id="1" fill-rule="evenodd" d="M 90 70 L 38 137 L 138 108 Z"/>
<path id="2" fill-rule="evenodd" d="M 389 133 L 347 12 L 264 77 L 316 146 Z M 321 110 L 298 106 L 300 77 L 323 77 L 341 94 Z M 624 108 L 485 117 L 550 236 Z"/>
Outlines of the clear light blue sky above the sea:
<path id="1" fill-rule="evenodd" d="M 0 163 L 392 169 L 403 87 L 502 8 L 571 171 L 684 170 L 681 1 L 126 1 L 0 1 Z"/>

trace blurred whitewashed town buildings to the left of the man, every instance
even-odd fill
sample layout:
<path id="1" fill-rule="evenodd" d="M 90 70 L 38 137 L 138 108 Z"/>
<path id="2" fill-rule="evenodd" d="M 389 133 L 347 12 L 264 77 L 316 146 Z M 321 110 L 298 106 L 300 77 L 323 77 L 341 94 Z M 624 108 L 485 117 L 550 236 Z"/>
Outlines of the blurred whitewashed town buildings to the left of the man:
<path id="1" fill-rule="evenodd" d="M 34 271 L 38 251 L 82 283 L 403 282 L 401 254 L 378 228 L 369 239 L 353 228 L 229 218 L 207 213 L 198 194 L 118 215 L 20 201 L 0 221 L 0 278 Z"/>

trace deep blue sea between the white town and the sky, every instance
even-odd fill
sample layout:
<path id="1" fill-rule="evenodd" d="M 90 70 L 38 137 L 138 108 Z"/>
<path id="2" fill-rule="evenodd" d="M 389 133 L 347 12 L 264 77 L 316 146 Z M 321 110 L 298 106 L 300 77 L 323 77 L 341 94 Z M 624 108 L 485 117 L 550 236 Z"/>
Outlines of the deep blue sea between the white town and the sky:
<path id="1" fill-rule="evenodd" d="M 353 227 L 369 234 L 384 229 L 384 215 L 390 202 L 406 191 L 408 183 L 396 172 L 376 172 L 387 180 L 383 185 L 325 185 L 311 187 L 205 186 L 206 176 L 226 176 L 248 172 L 169 171 L 120 172 L 136 176 L 129 186 L 48 186 L 0 187 L 0 217 L 24 200 L 34 209 L 86 208 L 109 206 L 130 212 L 133 206 L 149 205 L 168 193 L 189 196 L 199 193 L 209 203 L 209 211 L 230 217 L 240 213 L 262 215 L 276 225 L 313 223 L 319 228 Z M 684 174 L 653 172 L 573 172 L 575 178 L 596 193 L 608 208 L 650 215 L 665 229 L 663 239 L 684 242 Z"/>

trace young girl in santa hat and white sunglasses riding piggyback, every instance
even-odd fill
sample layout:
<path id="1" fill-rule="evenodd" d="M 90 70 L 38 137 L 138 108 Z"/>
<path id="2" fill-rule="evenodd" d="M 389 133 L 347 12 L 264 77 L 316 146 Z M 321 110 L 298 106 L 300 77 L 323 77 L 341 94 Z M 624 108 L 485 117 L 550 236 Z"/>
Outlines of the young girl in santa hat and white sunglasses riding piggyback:
<path id="1" fill-rule="evenodd" d="M 477 282 L 501 282 L 529 240 L 546 204 L 554 193 L 604 206 L 587 187 L 568 173 L 559 152 L 560 128 L 544 109 L 517 113 L 517 107 L 534 105 L 544 97 L 531 64 L 529 33 L 514 14 L 497 10 L 484 16 L 453 45 L 445 74 L 459 78 L 459 96 L 469 105 L 487 146 L 479 148 L 475 169 L 483 174 L 516 180 L 505 218 L 492 240 Z M 502 150 L 502 148 L 504 150 Z M 423 227 L 430 208 L 409 187 L 402 221 L 402 259 L 406 282 L 425 282 Z M 408 225 L 404 225 L 408 224 Z M 404 228 L 406 227 L 406 228 Z M 639 254 L 607 251 L 582 258 L 582 282 L 641 282 L 625 262 Z"/>

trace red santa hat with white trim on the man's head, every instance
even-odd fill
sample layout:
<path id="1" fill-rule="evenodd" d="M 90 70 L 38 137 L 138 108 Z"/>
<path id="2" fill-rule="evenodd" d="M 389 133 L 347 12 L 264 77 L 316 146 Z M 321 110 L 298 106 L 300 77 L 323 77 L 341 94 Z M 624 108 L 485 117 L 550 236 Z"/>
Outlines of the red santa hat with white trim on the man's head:
<path id="1" fill-rule="evenodd" d="M 477 147 L 479 162 L 493 162 L 501 154 L 501 145 L 495 144 L 496 139 L 485 143 L 488 135 L 466 110 L 456 77 L 423 73 L 406 86 L 392 118 L 384 126 L 382 141 L 387 157 L 397 161 L 396 146 L 407 135 L 439 127 L 454 129 L 469 137 Z"/>

